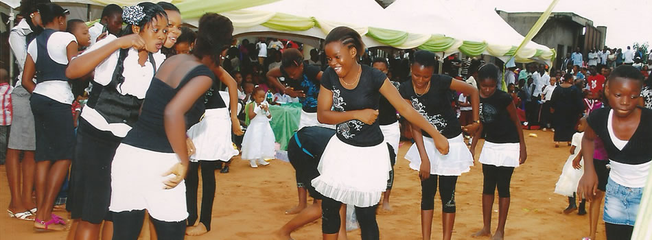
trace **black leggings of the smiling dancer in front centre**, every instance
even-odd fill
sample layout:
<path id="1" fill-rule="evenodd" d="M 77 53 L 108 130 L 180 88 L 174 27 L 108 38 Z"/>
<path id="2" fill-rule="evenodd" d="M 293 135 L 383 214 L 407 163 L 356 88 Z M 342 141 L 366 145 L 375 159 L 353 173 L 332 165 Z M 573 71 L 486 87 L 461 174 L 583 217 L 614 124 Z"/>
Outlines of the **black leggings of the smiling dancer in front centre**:
<path id="1" fill-rule="evenodd" d="M 329 197 L 321 201 L 321 231 L 324 234 L 334 234 L 340 231 L 340 207 L 337 202 Z M 360 236 L 362 240 L 380 239 L 378 224 L 376 222 L 376 208 L 378 205 L 360 208 L 356 206 L 356 216 L 360 224 Z"/>

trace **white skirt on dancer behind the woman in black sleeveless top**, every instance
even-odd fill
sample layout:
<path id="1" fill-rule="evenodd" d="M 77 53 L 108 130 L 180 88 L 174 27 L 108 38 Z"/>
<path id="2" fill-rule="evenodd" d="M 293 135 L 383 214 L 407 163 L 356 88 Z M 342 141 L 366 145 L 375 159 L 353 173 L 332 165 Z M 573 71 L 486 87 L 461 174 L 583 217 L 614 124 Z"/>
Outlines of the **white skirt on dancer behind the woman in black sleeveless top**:
<path id="1" fill-rule="evenodd" d="M 229 161 L 238 154 L 231 141 L 231 117 L 226 108 L 207 109 L 202 121 L 188 130 L 188 137 L 195 145 L 190 160 Z"/>

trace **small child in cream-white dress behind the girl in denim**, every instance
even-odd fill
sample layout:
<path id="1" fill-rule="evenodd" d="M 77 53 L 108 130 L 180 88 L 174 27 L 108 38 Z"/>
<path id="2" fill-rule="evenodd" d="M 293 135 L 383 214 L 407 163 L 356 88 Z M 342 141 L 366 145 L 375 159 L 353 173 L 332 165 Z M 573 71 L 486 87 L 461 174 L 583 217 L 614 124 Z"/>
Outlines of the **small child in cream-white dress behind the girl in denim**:
<path id="1" fill-rule="evenodd" d="M 572 142 L 571 142 L 571 147 L 570 147 L 570 156 L 568 156 L 568 159 L 566 160 L 566 163 L 563 165 L 563 169 L 561 169 L 561 175 L 559 176 L 559 180 L 557 181 L 557 184 L 555 186 L 555 193 L 560 194 L 560 195 L 565 195 L 568 197 L 568 207 L 564 209 L 563 213 L 570 213 L 577 209 L 576 202 L 575 200 L 575 191 L 577 191 L 577 184 L 579 183 L 579 179 L 582 177 L 582 174 L 584 173 L 584 169 L 581 167 L 583 165 L 582 161 L 582 136 L 584 136 L 584 128 L 586 127 L 586 119 L 580 119 L 579 124 L 577 125 L 577 130 L 579 132 L 576 132 L 573 134 Z M 577 214 L 579 215 L 584 215 L 586 214 L 585 208 L 585 200 L 582 200 L 580 203 L 580 209 Z"/>

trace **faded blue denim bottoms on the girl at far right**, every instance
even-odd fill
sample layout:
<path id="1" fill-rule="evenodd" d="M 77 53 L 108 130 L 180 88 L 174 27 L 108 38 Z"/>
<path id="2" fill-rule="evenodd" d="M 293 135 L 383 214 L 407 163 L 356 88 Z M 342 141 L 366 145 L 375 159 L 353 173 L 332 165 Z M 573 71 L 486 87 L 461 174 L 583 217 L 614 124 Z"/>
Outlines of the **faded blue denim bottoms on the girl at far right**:
<path id="1" fill-rule="evenodd" d="M 604 220 L 609 224 L 634 226 L 643 188 L 622 186 L 612 178 L 607 181 Z"/>

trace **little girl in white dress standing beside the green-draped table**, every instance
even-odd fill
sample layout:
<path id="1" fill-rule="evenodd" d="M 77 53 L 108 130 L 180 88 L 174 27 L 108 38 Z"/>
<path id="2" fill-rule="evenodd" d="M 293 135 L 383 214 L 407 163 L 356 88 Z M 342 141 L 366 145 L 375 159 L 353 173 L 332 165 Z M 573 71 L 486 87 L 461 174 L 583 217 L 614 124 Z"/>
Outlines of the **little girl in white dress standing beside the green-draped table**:
<path id="1" fill-rule="evenodd" d="M 242 159 L 249 160 L 251 167 L 258 167 L 257 164 L 268 165 L 266 159 L 275 158 L 275 137 L 270 125 L 272 114 L 265 100 L 265 91 L 256 88 L 253 98 L 254 102 L 247 108 L 251 121 L 242 140 Z"/>

